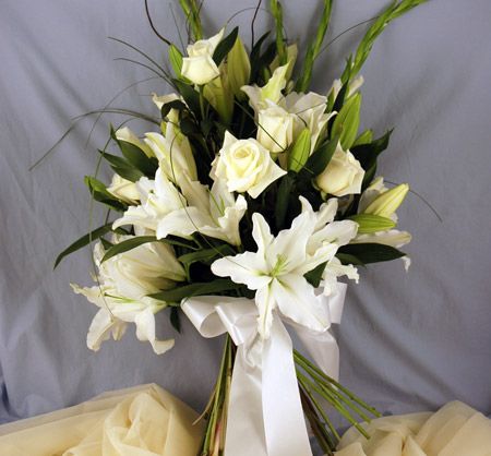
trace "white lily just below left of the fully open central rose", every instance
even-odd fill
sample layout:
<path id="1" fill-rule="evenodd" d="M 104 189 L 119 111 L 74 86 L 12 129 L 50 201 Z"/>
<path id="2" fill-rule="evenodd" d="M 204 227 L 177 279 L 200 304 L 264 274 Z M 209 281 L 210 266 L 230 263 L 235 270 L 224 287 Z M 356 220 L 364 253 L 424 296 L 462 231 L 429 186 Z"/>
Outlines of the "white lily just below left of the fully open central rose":
<path id="1" fill-rule="evenodd" d="M 236 200 L 221 179 L 216 180 L 211 190 L 188 178 L 182 179 L 180 187 L 187 204 L 159 220 L 158 239 L 169 235 L 189 237 L 197 231 L 233 245 L 240 244 L 239 223 L 248 207 L 242 195 Z"/>

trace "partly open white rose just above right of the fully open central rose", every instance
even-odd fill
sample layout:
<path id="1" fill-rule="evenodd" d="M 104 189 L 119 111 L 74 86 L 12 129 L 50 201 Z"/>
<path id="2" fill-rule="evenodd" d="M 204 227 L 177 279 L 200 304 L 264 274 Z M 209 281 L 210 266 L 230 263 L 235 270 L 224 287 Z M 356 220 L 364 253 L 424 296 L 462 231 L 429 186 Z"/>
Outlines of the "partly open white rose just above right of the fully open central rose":
<path id="1" fill-rule="evenodd" d="M 295 116 L 279 106 L 259 111 L 258 141 L 270 152 L 284 152 L 294 142 Z"/>

